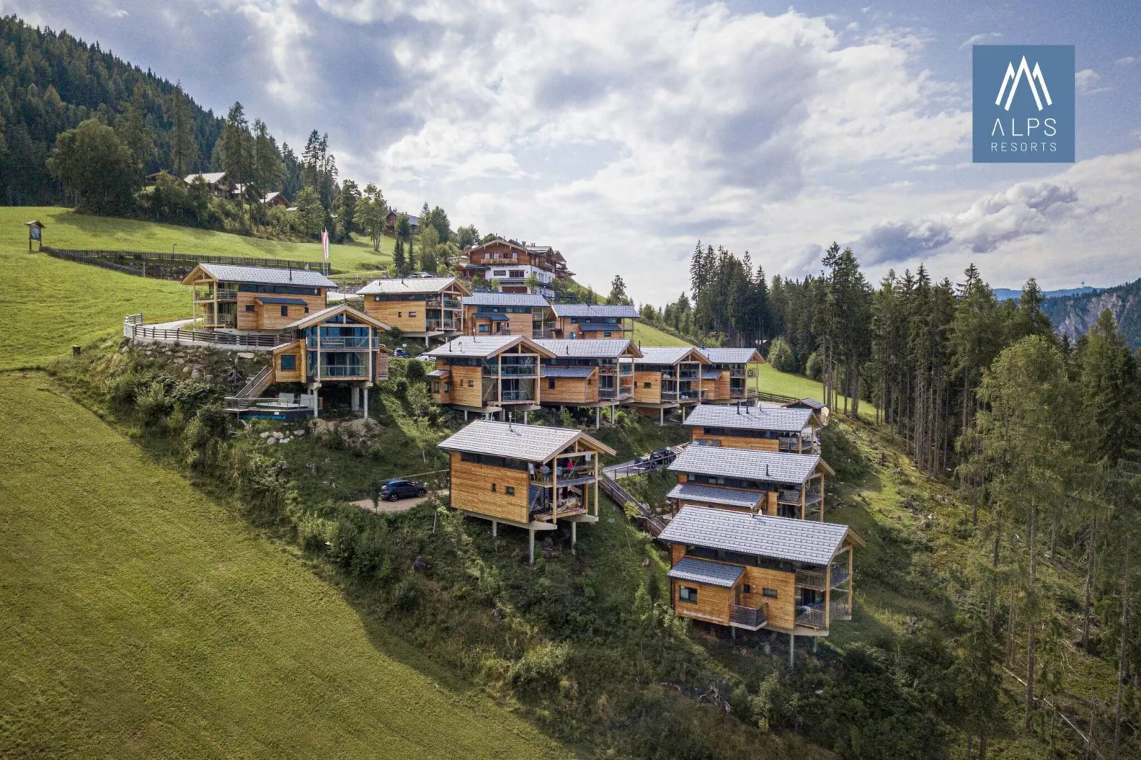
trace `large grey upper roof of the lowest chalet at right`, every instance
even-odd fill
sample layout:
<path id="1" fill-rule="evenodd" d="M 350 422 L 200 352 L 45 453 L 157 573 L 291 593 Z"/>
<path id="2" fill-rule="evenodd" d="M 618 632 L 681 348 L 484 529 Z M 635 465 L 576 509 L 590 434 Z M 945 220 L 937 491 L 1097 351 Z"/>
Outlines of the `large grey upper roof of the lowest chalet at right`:
<path id="1" fill-rule="evenodd" d="M 658 537 L 667 543 L 827 565 L 847 535 L 848 526 L 834 523 L 682 507 Z"/>

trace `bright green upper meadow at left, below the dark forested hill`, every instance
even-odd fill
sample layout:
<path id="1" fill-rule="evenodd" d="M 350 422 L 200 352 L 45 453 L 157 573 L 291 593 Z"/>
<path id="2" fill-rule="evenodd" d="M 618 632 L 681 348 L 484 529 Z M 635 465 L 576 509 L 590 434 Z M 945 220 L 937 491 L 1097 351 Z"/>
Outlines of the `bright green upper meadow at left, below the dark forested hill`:
<path id="1" fill-rule="evenodd" d="M 74 213 L 58 208 L 0 208 L 0 370 L 39 366 L 121 329 L 123 316 L 143 312 L 148 322 L 189 316 L 187 290 L 176 282 L 146 280 L 83 264 L 27 253 L 25 221 L 47 225 L 44 242 L 56 248 L 169 251 L 319 260 L 316 243 L 283 243 L 226 233 Z M 372 245 L 333 245 L 334 268 L 383 266 L 393 241 L 380 254 Z"/>

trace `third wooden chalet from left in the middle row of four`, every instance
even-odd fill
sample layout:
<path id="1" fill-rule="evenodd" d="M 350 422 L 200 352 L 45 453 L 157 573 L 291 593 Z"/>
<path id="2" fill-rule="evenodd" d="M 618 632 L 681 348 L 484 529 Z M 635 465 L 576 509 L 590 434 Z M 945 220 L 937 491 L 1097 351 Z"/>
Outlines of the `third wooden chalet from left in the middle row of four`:
<path id="1" fill-rule="evenodd" d="M 634 393 L 630 405 L 658 413 L 665 422 L 665 411 L 682 405 L 698 404 L 702 389 L 702 370 L 710 361 L 691 346 L 645 346 L 640 358 L 626 359 L 633 369 Z"/>

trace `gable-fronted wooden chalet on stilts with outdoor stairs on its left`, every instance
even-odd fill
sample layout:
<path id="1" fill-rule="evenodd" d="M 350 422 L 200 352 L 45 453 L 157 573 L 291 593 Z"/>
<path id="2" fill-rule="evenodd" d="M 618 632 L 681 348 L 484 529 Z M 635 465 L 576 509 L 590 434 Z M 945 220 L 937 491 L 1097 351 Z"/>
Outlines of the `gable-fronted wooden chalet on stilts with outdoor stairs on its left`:
<path id="1" fill-rule="evenodd" d="M 383 322 L 347 304 L 309 314 L 284 328 L 283 332 L 291 334 L 293 340 L 273 349 L 272 375 L 264 387 L 281 382 L 304 383 L 309 391 L 306 398 L 313 415 L 317 417 L 319 389 L 327 385 L 347 385 L 353 411 L 369 417 L 369 388 L 388 379 L 389 349 L 380 341 L 380 333 L 388 329 Z M 272 409 L 265 404 L 243 403 L 243 406 L 246 415 Z"/>

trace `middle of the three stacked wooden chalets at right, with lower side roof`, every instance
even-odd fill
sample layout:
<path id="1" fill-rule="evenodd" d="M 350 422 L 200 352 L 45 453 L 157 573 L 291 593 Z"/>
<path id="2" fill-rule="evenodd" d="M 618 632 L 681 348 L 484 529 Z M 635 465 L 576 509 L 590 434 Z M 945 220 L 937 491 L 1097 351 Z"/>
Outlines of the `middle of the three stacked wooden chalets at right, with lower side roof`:
<path id="1" fill-rule="evenodd" d="M 687 506 L 824 520 L 825 474 L 818 454 L 780 454 L 689 444 L 670 463 L 678 485 L 666 494 L 674 510 Z"/>

